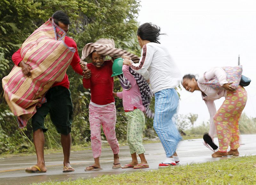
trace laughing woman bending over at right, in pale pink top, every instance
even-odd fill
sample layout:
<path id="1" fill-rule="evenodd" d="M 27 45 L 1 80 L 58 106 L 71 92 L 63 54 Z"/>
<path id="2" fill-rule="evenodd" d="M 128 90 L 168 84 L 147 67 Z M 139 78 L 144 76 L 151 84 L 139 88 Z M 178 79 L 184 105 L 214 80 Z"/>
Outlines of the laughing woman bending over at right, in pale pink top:
<path id="1" fill-rule="evenodd" d="M 222 89 L 213 89 L 206 82 L 217 78 Z M 183 87 L 194 92 L 200 90 L 204 102 L 210 113 L 210 131 L 209 135 L 213 139 L 216 134 L 219 140 L 219 150 L 212 154 L 212 157 L 221 157 L 226 155 L 239 155 L 239 125 L 238 121 L 247 102 L 247 92 L 244 87 L 238 85 L 237 89 L 228 83 L 227 74 L 223 68 L 212 68 L 200 76 L 198 80 L 194 75 L 185 75 L 183 77 Z M 214 100 L 225 97 L 219 110 L 216 112 Z M 228 146 L 230 151 L 227 152 Z"/>

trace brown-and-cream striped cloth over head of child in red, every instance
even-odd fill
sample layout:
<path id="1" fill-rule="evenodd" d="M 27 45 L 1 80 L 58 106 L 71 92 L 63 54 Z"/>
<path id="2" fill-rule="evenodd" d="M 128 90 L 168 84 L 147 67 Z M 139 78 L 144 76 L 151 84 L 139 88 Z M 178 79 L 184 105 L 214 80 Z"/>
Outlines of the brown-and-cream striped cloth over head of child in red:
<path id="1" fill-rule="evenodd" d="M 88 57 L 93 51 L 97 51 L 104 56 L 110 56 L 113 58 L 119 58 L 121 56 L 131 57 L 133 62 L 139 62 L 140 58 L 123 49 L 115 48 L 115 42 L 113 39 L 99 39 L 95 43 L 88 43 L 84 46 L 82 51 L 81 61 Z"/>

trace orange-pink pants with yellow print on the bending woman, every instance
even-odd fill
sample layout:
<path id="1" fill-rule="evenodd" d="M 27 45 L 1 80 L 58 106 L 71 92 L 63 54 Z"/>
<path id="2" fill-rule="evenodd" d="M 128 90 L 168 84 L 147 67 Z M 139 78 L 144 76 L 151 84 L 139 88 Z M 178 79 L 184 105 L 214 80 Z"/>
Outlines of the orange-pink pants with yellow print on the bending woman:
<path id="1" fill-rule="evenodd" d="M 239 145 L 239 118 L 247 102 L 247 92 L 240 85 L 236 91 L 228 91 L 225 101 L 213 120 L 219 140 L 219 152 L 227 152 L 228 146 L 236 150 Z"/>

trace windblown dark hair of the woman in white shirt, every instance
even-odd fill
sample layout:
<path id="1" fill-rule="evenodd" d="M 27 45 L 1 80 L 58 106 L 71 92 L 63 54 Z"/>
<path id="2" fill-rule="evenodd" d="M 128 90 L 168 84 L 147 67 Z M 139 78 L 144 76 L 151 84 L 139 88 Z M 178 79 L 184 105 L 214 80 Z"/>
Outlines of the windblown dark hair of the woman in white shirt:
<path id="1" fill-rule="evenodd" d="M 159 36 L 165 34 L 160 33 L 160 27 L 158 27 L 157 25 L 153 25 L 151 23 L 144 23 L 138 28 L 137 35 L 140 36 L 142 40 L 148 40 L 150 42 L 160 44 L 160 42 L 158 41 Z"/>

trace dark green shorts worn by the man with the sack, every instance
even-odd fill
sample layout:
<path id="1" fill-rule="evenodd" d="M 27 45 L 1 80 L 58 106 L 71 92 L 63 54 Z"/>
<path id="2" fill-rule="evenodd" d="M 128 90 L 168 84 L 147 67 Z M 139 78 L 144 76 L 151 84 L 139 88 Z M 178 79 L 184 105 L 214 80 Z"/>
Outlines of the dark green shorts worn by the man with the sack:
<path id="1" fill-rule="evenodd" d="M 73 103 L 69 89 L 55 86 L 48 90 L 45 95 L 47 102 L 36 110 L 32 117 L 32 127 L 35 132 L 38 129 L 47 131 L 44 127 L 44 118 L 48 113 L 58 133 L 68 135 L 71 132 Z"/>

